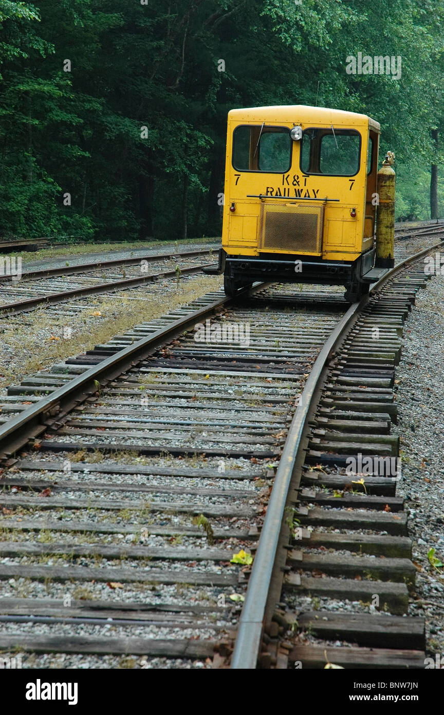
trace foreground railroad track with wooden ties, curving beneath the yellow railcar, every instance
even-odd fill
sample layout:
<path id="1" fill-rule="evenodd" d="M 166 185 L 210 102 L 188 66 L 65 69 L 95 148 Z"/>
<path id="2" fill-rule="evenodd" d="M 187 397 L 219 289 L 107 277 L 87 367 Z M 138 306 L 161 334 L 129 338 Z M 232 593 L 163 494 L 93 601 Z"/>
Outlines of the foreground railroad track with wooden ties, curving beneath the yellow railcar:
<path id="1" fill-rule="evenodd" d="M 208 294 L 9 388 L 0 649 L 34 667 L 323 667 L 321 649 L 419 667 L 423 623 L 398 616 L 414 567 L 395 478 L 365 478 L 362 495 L 326 471 L 396 453 L 393 370 L 425 279 L 410 262 L 352 306 L 264 284 Z M 307 593 L 375 594 L 383 613 L 302 617 Z M 324 647 L 333 632 L 358 647 Z"/>

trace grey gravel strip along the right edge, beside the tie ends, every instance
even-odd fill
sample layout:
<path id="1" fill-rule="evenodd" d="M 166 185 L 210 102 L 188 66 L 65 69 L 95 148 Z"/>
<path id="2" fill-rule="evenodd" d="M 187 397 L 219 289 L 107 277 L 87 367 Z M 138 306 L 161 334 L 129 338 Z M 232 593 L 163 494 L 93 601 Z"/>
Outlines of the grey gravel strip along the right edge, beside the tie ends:
<path id="1" fill-rule="evenodd" d="M 444 653 L 444 568 L 434 568 L 430 548 L 444 563 L 444 277 L 420 290 L 405 322 L 396 370 L 402 478 L 397 495 L 408 508 L 416 596 L 410 615 L 425 616 L 428 651 Z"/>

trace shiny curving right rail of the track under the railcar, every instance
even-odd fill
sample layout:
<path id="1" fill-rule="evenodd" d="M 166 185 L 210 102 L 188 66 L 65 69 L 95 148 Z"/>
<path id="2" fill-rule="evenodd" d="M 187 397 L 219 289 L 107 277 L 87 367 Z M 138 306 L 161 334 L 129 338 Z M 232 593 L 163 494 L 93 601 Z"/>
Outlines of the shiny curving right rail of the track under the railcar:
<path id="1" fill-rule="evenodd" d="M 266 516 L 263 521 L 261 536 L 258 541 L 256 556 L 253 561 L 251 576 L 248 581 L 246 598 L 243 603 L 241 618 L 236 636 L 236 643 L 231 656 L 231 669 L 256 669 L 261 649 L 264 621 L 268 594 L 271 588 L 271 579 L 278 554 L 278 543 L 283 528 L 283 516 L 286 508 L 288 493 L 293 475 L 298 468 L 298 455 L 301 453 L 301 444 L 304 431 L 308 422 L 308 415 L 316 406 L 321 377 L 326 371 L 329 356 L 348 332 L 348 327 L 354 323 L 361 310 L 370 300 L 370 295 L 379 290 L 385 282 L 390 280 L 403 266 L 408 265 L 421 256 L 444 244 L 444 240 L 437 244 L 415 253 L 415 255 L 398 262 L 393 268 L 383 275 L 371 288 L 369 295 L 365 295 L 360 302 L 350 305 L 348 311 L 336 325 L 335 329 L 324 343 L 321 352 L 316 358 L 306 385 L 301 394 L 300 402 L 293 415 L 288 436 L 284 445 L 281 459 L 271 491 Z"/>

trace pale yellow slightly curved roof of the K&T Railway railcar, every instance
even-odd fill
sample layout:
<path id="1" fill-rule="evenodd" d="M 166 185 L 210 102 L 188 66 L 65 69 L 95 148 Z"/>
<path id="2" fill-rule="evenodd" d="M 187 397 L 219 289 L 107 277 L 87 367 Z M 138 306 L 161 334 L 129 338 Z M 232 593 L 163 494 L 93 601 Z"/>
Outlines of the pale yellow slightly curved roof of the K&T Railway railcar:
<path id="1" fill-rule="evenodd" d="M 366 114 L 344 112 L 342 109 L 308 107 L 306 104 L 284 104 L 276 107 L 246 107 L 231 109 L 229 119 L 239 122 L 302 122 L 303 124 L 344 124 L 355 126 L 368 124 L 370 129 L 380 132 L 380 124 Z"/>

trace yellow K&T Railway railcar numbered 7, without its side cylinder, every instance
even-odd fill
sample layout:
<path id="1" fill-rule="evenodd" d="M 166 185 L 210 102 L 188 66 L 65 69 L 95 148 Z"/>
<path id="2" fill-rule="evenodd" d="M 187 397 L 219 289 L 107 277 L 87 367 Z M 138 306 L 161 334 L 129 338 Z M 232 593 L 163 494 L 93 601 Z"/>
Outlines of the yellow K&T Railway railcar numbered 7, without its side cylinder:
<path id="1" fill-rule="evenodd" d="M 219 272 L 227 295 L 255 280 L 368 291 L 380 126 L 337 109 L 228 114 Z M 366 280 L 367 275 L 367 280 Z"/>

